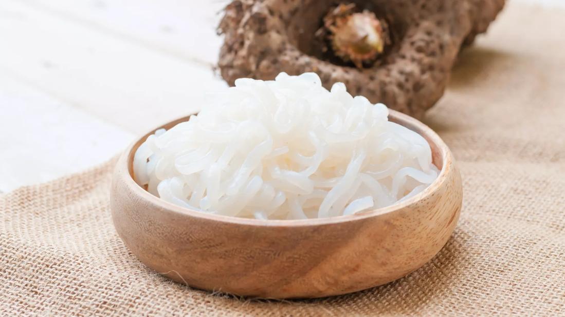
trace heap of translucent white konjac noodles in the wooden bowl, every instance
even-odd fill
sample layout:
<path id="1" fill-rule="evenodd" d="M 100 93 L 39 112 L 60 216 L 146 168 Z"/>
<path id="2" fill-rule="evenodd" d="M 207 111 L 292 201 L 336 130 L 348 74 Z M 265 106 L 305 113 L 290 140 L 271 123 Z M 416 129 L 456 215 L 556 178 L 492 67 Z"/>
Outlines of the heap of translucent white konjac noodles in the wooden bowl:
<path id="1" fill-rule="evenodd" d="M 134 178 L 173 204 L 258 219 L 349 215 L 408 199 L 436 179 L 429 144 L 388 108 L 315 73 L 242 78 L 189 121 L 137 149 Z"/>

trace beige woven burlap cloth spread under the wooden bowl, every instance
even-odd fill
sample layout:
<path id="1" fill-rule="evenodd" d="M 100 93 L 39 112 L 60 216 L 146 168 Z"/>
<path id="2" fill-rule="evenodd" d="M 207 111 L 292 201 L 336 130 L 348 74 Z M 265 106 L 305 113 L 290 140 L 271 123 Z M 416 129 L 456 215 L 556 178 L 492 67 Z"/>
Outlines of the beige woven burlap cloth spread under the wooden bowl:
<path id="1" fill-rule="evenodd" d="M 0 196 L 0 315 L 565 314 L 565 11 L 510 3 L 425 122 L 464 179 L 453 237 L 418 271 L 321 300 L 245 301 L 164 279 L 108 206 L 114 160 Z"/>

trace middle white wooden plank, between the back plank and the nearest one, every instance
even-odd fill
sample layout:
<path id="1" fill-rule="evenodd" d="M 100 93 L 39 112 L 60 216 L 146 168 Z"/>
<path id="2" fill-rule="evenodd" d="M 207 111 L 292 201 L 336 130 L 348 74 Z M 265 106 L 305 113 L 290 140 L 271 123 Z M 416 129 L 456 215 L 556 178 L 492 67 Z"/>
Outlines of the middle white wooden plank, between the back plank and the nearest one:
<path id="1" fill-rule="evenodd" d="M 211 68 L 0 2 L 0 72 L 135 133 L 203 105 L 227 86 Z"/>

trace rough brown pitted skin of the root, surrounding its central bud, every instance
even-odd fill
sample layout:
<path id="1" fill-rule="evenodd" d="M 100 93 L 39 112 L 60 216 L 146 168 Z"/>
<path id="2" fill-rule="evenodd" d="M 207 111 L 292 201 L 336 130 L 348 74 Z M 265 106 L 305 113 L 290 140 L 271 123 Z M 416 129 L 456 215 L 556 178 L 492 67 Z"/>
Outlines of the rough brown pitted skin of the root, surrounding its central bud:
<path id="1" fill-rule="evenodd" d="M 272 80 L 280 72 L 318 73 L 324 87 L 344 82 L 353 95 L 423 117 L 444 94 L 463 45 L 472 43 L 502 10 L 505 0 L 346 1 L 375 12 L 389 26 L 391 42 L 370 68 L 323 58 L 315 33 L 328 10 L 344 3 L 319 0 L 235 0 L 219 32 L 221 76 Z"/>

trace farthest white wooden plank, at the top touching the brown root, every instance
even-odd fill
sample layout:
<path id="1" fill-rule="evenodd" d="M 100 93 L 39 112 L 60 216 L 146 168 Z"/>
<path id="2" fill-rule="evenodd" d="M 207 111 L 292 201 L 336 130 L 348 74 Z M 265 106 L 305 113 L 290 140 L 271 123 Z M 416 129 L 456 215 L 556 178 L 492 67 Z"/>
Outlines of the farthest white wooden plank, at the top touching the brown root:
<path id="1" fill-rule="evenodd" d="M 227 0 L 19 0 L 101 32 L 183 59 L 215 64 Z"/>

